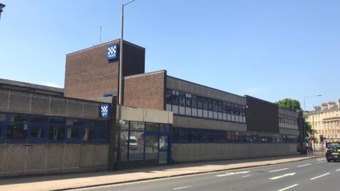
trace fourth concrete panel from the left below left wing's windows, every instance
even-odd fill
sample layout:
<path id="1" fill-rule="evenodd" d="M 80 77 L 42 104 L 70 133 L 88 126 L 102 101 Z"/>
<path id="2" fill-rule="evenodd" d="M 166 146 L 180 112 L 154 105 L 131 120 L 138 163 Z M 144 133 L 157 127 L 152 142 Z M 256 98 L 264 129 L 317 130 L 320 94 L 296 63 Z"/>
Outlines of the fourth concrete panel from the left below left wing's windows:
<path id="1" fill-rule="evenodd" d="M 64 154 L 64 168 L 79 167 L 80 144 L 66 144 Z"/>

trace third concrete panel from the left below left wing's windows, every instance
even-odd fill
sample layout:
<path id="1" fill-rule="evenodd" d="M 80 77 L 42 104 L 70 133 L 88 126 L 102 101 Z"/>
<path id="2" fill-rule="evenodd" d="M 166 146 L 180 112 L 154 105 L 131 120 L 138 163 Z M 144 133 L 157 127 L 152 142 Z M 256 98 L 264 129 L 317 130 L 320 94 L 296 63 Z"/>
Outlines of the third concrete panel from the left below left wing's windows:
<path id="1" fill-rule="evenodd" d="M 64 144 L 50 144 L 47 146 L 47 169 L 62 169 L 64 163 Z M 57 172 L 59 172 L 57 170 Z M 53 173 L 53 171 L 52 171 Z"/>

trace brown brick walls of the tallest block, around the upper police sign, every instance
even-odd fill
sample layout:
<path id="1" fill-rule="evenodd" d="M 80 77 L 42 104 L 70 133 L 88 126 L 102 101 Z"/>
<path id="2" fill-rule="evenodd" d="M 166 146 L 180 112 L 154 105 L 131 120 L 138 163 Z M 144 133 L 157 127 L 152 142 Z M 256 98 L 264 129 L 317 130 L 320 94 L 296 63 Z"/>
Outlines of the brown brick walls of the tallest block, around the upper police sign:
<path id="1" fill-rule="evenodd" d="M 64 96 L 69 98 L 101 98 L 103 93 L 118 96 L 119 58 L 107 60 L 107 46 L 120 40 L 105 43 L 72 54 L 67 54 Z M 123 76 L 145 71 L 145 49 L 124 42 Z"/>

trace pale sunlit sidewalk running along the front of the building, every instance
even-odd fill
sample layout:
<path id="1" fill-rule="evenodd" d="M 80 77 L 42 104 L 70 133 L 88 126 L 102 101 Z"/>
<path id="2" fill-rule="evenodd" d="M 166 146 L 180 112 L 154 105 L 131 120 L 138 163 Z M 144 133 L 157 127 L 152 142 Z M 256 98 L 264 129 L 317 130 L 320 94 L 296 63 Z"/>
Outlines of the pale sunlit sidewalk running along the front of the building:
<path id="1" fill-rule="evenodd" d="M 78 173 L 69 175 L 46 175 L 21 178 L 0 179 L 0 190 L 64 190 L 96 185 L 110 185 L 140 180 L 208 173 L 220 170 L 266 166 L 278 163 L 302 161 L 313 157 L 285 156 L 268 158 L 251 158 L 227 161 L 208 161 L 199 163 L 181 163 L 173 166 L 157 166 L 134 170 L 113 172 Z"/>

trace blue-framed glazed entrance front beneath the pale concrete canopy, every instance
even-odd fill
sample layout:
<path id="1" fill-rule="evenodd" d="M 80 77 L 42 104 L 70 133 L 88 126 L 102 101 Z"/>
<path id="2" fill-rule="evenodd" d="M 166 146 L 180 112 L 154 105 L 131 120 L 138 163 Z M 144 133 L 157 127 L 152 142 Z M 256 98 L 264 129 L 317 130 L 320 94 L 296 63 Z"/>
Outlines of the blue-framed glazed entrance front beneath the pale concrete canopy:
<path id="1" fill-rule="evenodd" d="M 167 163 L 169 124 L 125 121 L 118 127 L 118 161 Z"/>

